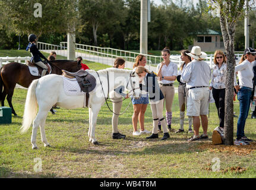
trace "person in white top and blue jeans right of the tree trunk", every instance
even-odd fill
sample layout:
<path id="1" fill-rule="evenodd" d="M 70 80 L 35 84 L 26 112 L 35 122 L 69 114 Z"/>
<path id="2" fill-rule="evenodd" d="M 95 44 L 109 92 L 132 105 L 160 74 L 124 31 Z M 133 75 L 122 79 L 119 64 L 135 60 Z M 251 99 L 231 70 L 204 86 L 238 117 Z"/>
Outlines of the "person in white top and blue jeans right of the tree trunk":
<path id="1" fill-rule="evenodd" d="M 253 88 L 252 79 L 254 78 L 252 62 L 255 60 L 255 55 L 256 51 L 254 49 L 251 47 L 246 48 L 239 65 L 235 66 L 234 85 L 236 91 L 238 91 L 240 109 L 235 144 L 239 143 L 239 141 L 244 141 L 245 143 L 252 141 L 245 136 L 244 129 L 251 102 L 250 98 Z M 239 85 L 236 83 L 236 72 L 238 72 Z M 255 93 L 254 99 L 256 99 Z"/>

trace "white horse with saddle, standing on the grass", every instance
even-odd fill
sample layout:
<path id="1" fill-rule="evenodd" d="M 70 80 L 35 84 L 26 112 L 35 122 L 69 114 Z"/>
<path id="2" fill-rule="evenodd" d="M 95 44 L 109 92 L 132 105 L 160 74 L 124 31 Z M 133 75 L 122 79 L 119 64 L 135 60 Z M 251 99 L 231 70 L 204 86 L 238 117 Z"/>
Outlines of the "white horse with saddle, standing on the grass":
<path id="1" fill-rule="evenodd" d="M 89 93 L 88 135 L 90 138 L 89 141 L 97 145 L 99 143 L 95 138 L 95 127 L 97 115 L 105 103 L 105 97 L 108 96 L 109 91 L 115 90 L 120 85 L 124 85 L 129 90 L 129 93 L 133 93 L 132 95 L 135 98 L 140 97 L 140 78 L 135 72 L 125 69 L 108 68 L 98 72 L 93 70 L 87 70 L 87 72 L 96 78 L 96 87 Z M 39 126 L 44 146 L 50 146 L 46 140 L 45 121 L 50 108 L 55 104 L 65 109 L 81 108 L 84 105 L 84 95 L 67 96 L 64 91 L 64 82 L 61 75 L 46 75 L 38 80 L 34 80 L 30 84 L 29 90 L 27 91 L 21 133 L 26 132 L 33 122 L 31 135 L 33 149 L 37 148 L 36 133 Z M 39 107 L 38 113 L 37 106 Z"/>

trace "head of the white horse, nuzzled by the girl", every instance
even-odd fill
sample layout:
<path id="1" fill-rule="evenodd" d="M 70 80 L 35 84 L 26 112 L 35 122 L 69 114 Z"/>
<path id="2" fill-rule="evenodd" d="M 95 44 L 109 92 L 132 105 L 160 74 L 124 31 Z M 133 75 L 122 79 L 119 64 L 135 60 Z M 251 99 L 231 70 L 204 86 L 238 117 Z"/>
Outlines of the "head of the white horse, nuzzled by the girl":
<path id="1" fill-rule="evenodd" d="M 138 74 L 135 71 L 132 71 L 129 75 L 127 89 L 132 93 L 134 99 L 139 99 L 141 97 L 140 77 L 138 77 Z"/>

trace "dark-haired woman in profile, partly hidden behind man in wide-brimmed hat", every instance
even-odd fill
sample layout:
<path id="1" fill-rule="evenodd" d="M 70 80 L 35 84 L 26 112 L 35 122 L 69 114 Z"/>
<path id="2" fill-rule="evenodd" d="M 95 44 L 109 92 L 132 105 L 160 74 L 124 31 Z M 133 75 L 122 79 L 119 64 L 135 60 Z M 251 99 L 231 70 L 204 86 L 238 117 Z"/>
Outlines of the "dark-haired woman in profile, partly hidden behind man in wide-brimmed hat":
<path id="1" fill-rule="evenodd" d="M 183 50 L 181 52 L 181 61 L 184 63 L 181 65 L 181 69 L 179 71 L 177 80 L 179 82 L 178 87 L 178 97 L 179 97 L 179 129 L 175 133 L 184 132 L 184 119 L 185 119 L 185 107 L 187 107 L 187 95 L 188 95 L 188 88 L 186 88 L 186 83 L 182 83 L 180 81 L 181 72 L 185 67 L 191 62 L 191 57 L 188 56 L 186 53 L 190 53 L 189 50 Z M 193 133 L 192 130 L 192 116 L 188 116 L 188 132 Z"/>

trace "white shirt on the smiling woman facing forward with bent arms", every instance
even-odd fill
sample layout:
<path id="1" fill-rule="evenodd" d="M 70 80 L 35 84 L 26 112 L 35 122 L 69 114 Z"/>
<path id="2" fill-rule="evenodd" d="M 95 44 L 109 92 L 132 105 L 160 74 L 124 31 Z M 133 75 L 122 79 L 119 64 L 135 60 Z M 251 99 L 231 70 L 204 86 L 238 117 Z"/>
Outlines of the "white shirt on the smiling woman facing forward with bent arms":
<path id="1" fill-rule="evenodd" d="M 156 67 L 156 72 L 159 71 L 161 64 L 158 64 Z M 178 65 L 176 65 L 175 63 L 171 62 L 169 63 L 168 66 L 163 65 L 162 67 L 162 72 L 161 72 L 163 77 L 171 77 L 171 76 L 178 76 Z M 164 80 L 162 79 L 162 84 L 172 84 L 174 83 L 174 81 L 168 81 L 168 80 Z"/>

